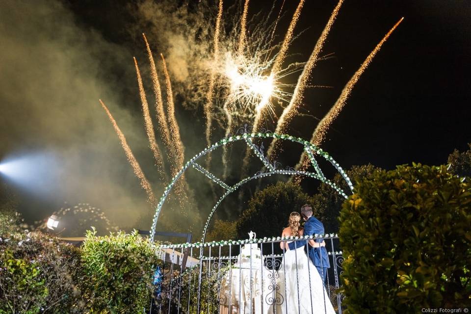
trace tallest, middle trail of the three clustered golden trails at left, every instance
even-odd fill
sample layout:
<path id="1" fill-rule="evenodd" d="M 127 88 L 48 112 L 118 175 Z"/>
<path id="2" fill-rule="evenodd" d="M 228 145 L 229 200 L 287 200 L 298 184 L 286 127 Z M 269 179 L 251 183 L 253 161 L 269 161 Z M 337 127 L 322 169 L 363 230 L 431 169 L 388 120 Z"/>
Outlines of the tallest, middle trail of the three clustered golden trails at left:
<path id="1" fill-rule="evenodd" d="M 162 143 L 165 145 L 167 158 L 169 160 L 175 160 L 173 147 L 170 144 L 170 133 L 168 131 L 167 121 L 165 120 L 165 112 L 163 110 L 162 92 L 160 90 L 160 83 L 158 81 L 156 63 L 154 62 L 154 57 L 152 56 L 152 51 L 149 46 L 149 43 L 147 42 L 146 35 L 142 34 L 142 37 L 144 37 L 144 42 L 146 43 L 147 54 L 149 56 L 149 63 L 151 65 L 151 78 L 152 78 L 152 83 L 154 86 L 154 96 L 156 98 L 155 108 L 157 112 L 156 117 L 157 117 L 158 130 L 160 133 L 160 139 L 162 140 Z"/>

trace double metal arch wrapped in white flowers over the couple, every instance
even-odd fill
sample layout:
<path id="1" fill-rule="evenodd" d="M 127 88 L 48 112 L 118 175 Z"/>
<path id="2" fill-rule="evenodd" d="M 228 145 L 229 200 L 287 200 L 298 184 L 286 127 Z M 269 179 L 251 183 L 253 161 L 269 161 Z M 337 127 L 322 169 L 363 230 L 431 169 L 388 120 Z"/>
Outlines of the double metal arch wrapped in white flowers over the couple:
<path id="1" fill-rule="evenodd" d="M 240 133 L 240 134 L 238 134 L 238 133 Z M 271 163 L 269 163 L 269 161 L 267 161 L 266 157 L 264 157 L 264 155 L 263 155 L 262 149 L 257 147 L 255 144 L 252 143 L 253 138 L 278 138 L 278 139 L 282 139 L 282 140 L 288 140 L 288 141 L 291 141 L 291 142 L 296 142 L 296 143 L 299 143 L 299 144 L 303 145 L 304 150 L 306 151 L 308 157 L 311 159 L 311 161 L 314 165 L 314 169 L 315 169 L 316 173 L 307 172 L 307 171 L 298 171 L 298 170 L 294 170 L 293 168 L 289 168 L 289 167 L 285 170 L 276 170 L 277 163 L 274 162 L 273 164 L 271 164 Z M 206 169 L 201 167 L 199 164 L 195 163 L 195 161 L 197 161 L 199 158 L 205 156 L 206 154 L 208 154 L 209 152 L 215 150 L 216 148 L 221 147 L 221 146 L 225 146 L 229 143 L 239 141 L 239 140 L 245 141 L 247 143 L 247 145 L 249 145 L 250 148 L 254 151 L 254 153 L 261 159 L 262 163 L 265 165 L 265 167 L 267 169 L 265 172 L 264 171 L 259 171 L 254 176 L 252 176 L 250 178 L 243 179 L 242 181 L 240 181 L 240 182 L 236 183 L 235 185 L 233 185 L 232 187 L 230 187 L 227 184 L 220 181 L 219 179 L 217 179 L 215 176 L 213 176 L 209 171 L 207 171 Z M 347 195 L 345 194 L 345 192 L 342 189 L 340 189 L 340 187 L 338 187 L 335 183 L 333 183 L 332 181 L 330 181 L 330 180 L 328 180 L 324 177 L 322 171 L 320 170 L 319 166 L 317 165 L 317 162 L 314 159 L 314 152 L 318 156 L 324 157 L 327 161 L 329 161 L 337 169 L 337 171 L 340 173 L 340 175 L 343 177 L 345 182 L 348 184 L 350 190 L 353 191 L 353 185 L 350 181 L 350 178 L 348 178 L 345 171 L 340 167 L 340 165 L 332 157 L 330 157 L 326 152 L 322 151 L 322 149 L 316 147 L 315 145 L 311 144 L 310 142 L 305 141 L 302 138 L 296 138 L 294 136 L 287 135 L 287 134 L 276 134 L 276 133 L 272 133 L 270 131 L 251 133 L 250 132 L 250 127 L 247 127 L 247 125 L 245 125 L 245 127 L 243 127 L 243 128 L 239 128 L 239 130 L 235 133 L 235 135 L 232 135 L 232 136 L 221 139 L 219 142 L 205 148 L 202 152 L 200 152 L 199 154 L 192 157 L 190 160 L 188 160 L 188 162 L 186 162 L 183 165 L 182 169 L 180 169 L 180 171 L 177 173 L 177 175 L 175 175 L 171 179 L 170 184 L 165 187 L 165 190 L 164 190 L 164 192 L 163 192 L 162 196 L 160 197 L 160 200 L 157 204 L 156 212 L 154 214 L 154 218 L 153 218 L 153 221 L 152 221 L 151 239 L 154 240 L 154 236 L 155 236 L 155 233 L 156 233 L 158 216 L 160 214 L 160 211 L 163 207 L 163 204 L 164 204 L 168 194 L 172 190 L 172 188 L 175 185 L 176 181 L 182 176 L 183 172 L 185 172 L 186 169 L 188 169 L 189 167 L 193 167 L 193 168 L 197 169 L 198 171 L 205 174 L 211 181 L 213 181 L 215 183 L 218 183 L 218 184 L 222 185 L 224 188 L 226 188 L 226 192 L 217 201 L 216 205 L 213 207 L 213 209 L 211 210 L 211 213 L 209 214 L 208 220 L 205 224 L 203 239 L 206 237 L 206 231 L 208 229 L 209 222 L 210 222 L 210 220 L 211 220 L 211 218 L 214 214 L 215 209 L 217 209 L 219 204 L 227 197 L 227 195 L 234 192 L 240 185 L 245 184 L 245 183 L 247 183 L 247 182 L 249 182 L 253 179 L 256 179 L 256 178 L 260 178 L 260 177 L 264 177 L 264 176 L 270 176 L 270 175 L 274 175 L 274 174 L 306 175 L 306 176 L 318 179 L 318 180 L 320 180 L 320 181 L 322 181 L 326 184 L 329 184 L 336 191 L 338 191 L 343 197 L 347 198 Z M 227 189 L 227 187 L 229 187 L 229 189 Z"/>

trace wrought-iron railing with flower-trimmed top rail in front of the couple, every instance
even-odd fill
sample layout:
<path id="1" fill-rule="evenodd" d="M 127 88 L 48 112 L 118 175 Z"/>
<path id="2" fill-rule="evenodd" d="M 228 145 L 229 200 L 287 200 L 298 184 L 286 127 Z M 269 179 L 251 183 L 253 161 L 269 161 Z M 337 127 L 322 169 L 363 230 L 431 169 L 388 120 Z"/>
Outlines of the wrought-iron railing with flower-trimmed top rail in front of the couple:
<path id="1" fill-rule="evenodd" d="M 329 299 L 325 301 L 330 301 L 335 311 L 341 314 L 342 295 L 338 289 L 343 257 L 339 250 L 339 238 L 334 234 L 303 238 L 325 241 L 330 262 L 324 278 L 325 296 Z M 325 307 L 310 307 L 306 312 L 306 308 L 301 309 L 300 306 L 301 301 L 306 304 L 306 298 L 310 298 L 312 304 L 314 290 L 322 289 L 314 287 L 311 280 L 314 274 L 319 274 L 314 264 L 296 262 L 295 270 L 287 273 L 283 259 L 285 249 L 281 249 L 280 242 L 296 239 L 299 238 L 272 237 L 163 245 L 160 250 L 162 264 L 156 272 L 155 296 L 147 313 L 265 314 L 291 313 L 293 309 L 297 309 L 299 314 L 324 313 Z M 306 242 L 305 249 L 308 245 Z M 295 252 L 305 254 L 300 250 Z M 185 253 L 188 258 L 182 272 L 182 257 Z M 301 258 L 300 261 L 308 261 Z M 298 288 L 294 291 L 294 299 L 292 296 L 286 297 L 287 276 Z M 299 289 L 299 283 L 306 278 L 309 280 L 309 293 L 306 288 Z M 316 283 L 322 285 L 322 280 Z M 305 284 L 303 287 L 306 287 Z M 304 299 L 301 300 L 301 297 Z M 293 302 L 298 303 L 297 307 L 291 304 Z"/>

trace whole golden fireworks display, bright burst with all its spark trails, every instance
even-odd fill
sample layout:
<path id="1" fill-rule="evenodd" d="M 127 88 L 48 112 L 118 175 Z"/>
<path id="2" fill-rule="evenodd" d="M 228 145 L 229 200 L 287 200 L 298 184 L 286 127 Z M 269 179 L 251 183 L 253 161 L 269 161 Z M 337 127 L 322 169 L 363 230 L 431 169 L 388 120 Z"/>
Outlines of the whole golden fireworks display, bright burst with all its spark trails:
<path id="1" fill-rule="evenodd" d="M 301 11 L 305 5 L 305 0 L 299 0 L 299 2 L 297 2 L 298 4 L 291 17 L 288 29 L 283 36 L 283 41 L 275 44 L 275 29 L 278 26 L 279 20 L 283 17 L 282 10 L 285 5 L 285 1 L 283 1 L 281 5 L 278 16 L 274 14 L 276 18 L 270 23 L 270 15 L 274 10 L 275 4 L 273 4 L 267 15 L 263 15 L 264 12 L 252 14 L 249 0 L 240 0 L 241 5 L 242 3 L 243 6 L 237 7 L 239 14 L 233 15 L 237 16 L 234 21 L 224 21 L 223 0 L 218 1 L 217 8 L 209 8 L 210 10 L 217 12 L 215 13 L 215 23 L 211 23 L 211 27 L 214 27 L 202 27 L 205 31 L 207 31 L 207 29 L 211 29 L 212 32 L 210 34 L 207 33 L 206 36 L 201 36 L 202 40 L 199 43 L 200 46 L 196 48 L 193 47 L 195 49 L 192 50 L 194 54 L 191 56 L 193 58 L 191 60 L 196 61 L 192 64 L 191 71 L 193 72 L 188 75 L 188 82 L 191 82 L 188 85 L 197 82 L 194 89 L 197 89 L 198 91 L 192 93 L 188 92 L 190 90 L 189 87 L 182 88 L 183 91 L 187 92 L 186 94 L 181 93 L 183 98 L 187 97 L 191 100 L 197 99 L 195 103 L 203 107 L 206 119 L 205 137 L 208 145 L 211 143 L 211 132 L 215 132 L 217 129 L 215 127 L 216 123 L 218 123 L 217 126 L 219 126 L 220 129 L 217 131 L 224 132 L 226 136 L 229 136 L 233 132 L 234 126 L 244 123 L 252 124 L 252 130 L 255 132 L 259 131 L 267 118 L 271 118 L 273 123 L 276 124 L 277 133 L 283 133 L 288 130 L 293 117 L 298 114 L 299 108 L 303 106 L 304 93 L 307 88 L 311 87 L 308 83 L 309 79 L 317 62 L 321 59 L 320 53 L 323 50 L 329 31 L 339 14 L 343 0 L 339 0 L 337 2 L 337 5 L 332 11 L 326 26 L 314 46 L 309 60 L 307 62 L 291 64 L 286 64 L 286 60 L 289 55 L 290 45 L 297 36 L 302 33 L 301 31 L 299 34 L 295 34 L 295 28 L 301 17 Z M 225 8 L 224 10 L 230 12 L 233 8 L 234 7 Z M 225 15 L 230 16 L 231 14 Z M 252 20 L 250 15 L 254 16 Z M 202 20 L 203 16 L 205 15 L 199 15 L 200 20 Z M 258 22 L 253 22 L 254 20 L 257 20 Z M 366 70 L 366 67 L 384 42 L 388 39 L 392 31 L 401 21 L 392 27 L 383 40 L 376 46 L 370 55 L 368 55 L 360 69 L 344 87 L 339 100 L 334 104 L 329 113 L 320 120 L 320 123 L 313 134 L 312 142 L 314 144 L 319 145 L 322 143 L 329 126 L 340 114 L 340 111 L 346 104 L 355 83 Z M 205 23 L 206 21 L 201 24 L 207 26 L 207 23 Z M 165 112 L 162 93 L 160 91 L 161 87 L 157 77 L 157 69 L 145 36 L 144 40 L 149 55 L 149 61 L 151 63 L 151 76 L 156 97 L 157 126 L 160 131 L 160 139 L 165 146 L 165 151 L 167 153 L 166 157 L 170 158 L 169 164 L 171 165 L 171 174 L 172 176 L 175 176 L 184 162 L 184 146 L 180 137 L 180 128 L 175 117 L 174 91 L 172 90 L 170 79 L 172 71 L 169 73 L 163 54 L 160 54 L 162 58 L 163 76 L 165 78 L 166 88 L 167 106 Z M 166 55 L 168 56 L 168 54 Z M 195 55 L 197 56 L 195 57 Z M 169 60 L 171 60 L 170 57 Z M 169 61 L 169 66 L 171 66 L 171 64 L 172 62 Z M 158 146 L 155 136 L 153 137 L 149 134 L 152 129 L 152 122 L 150 121 L 147 101 L 145 101 L 145 94 L 142 86 L 142 79 L 140 78 L 139 69 L 137 67 L 137 61 L 136 72 L 144 110 L 145 127 L 149 141 L 151 142 L 151 149 L 157 160 Z M 292 75 L 298 72 L 301 72 L 299 77 L 292 79 Z M 287 82 L 289 80 L 294 82 Z M 181 81 L 175 82 L 174 80 L 174 83 L 177 88 L 179 88 L 179 84 L 182 85 Z M 193 87 L 193 85 L 191 87 Z M 194 95 L 198 95 L 198 97 L 194 97 Z M 180 97 L 176 97 L 175 99 L 180 99 Z M 117 127 L 116 122 L 112 118 L 108 109 L 103 103 L 102 105 L 118 133 L 126 155 L 133 167 L 134 173 L 141 180 L 143 188 L 148 192 L 151 204 L 154 204 L 155 198 L 153 197 L 153 194 L 151 194 L 152 191 L 150 184 L 147 182 L 147 179 L 145 179 L 142 170 L 133 157 L 124 135 Z M 283 113 L 279 119 L 276 117 L 277 109 L 283 109 Z M 228 173 L 228 148 L 224 146 L 223 149 L 223 177 L 226 178 Z M 281 146 L 279 142 L 274 140 L 269 146 L 268 157 L 273 157 L 278 152 L 281 152 Z M 247 165 L 250 161 L 250 155 L 249 151 L 245 150 L 238 152 L 238 154 L 241 155 L 241 159 L 243 160 L 243 176 L 244 171 L 246 171 L 244 165 Z M 209 161 L 210 159 L 208 158 L 207 168 L 209 168 Z M 296 168 L 299 169 L 303 167 L 303 169 L 305 169 L 308 165 L 309 160 L 303 155 Z M 181 192 L 183 192 L 183 188 L 186 192 L 191 192 L 191 189 L 189 189 L 187 185 L 181 185 L 185 182 L 183 176 L 180 181 L 181 183 L 178 184 L 179 187 L 176 186 L 177 194 L 180 196 Z"/>

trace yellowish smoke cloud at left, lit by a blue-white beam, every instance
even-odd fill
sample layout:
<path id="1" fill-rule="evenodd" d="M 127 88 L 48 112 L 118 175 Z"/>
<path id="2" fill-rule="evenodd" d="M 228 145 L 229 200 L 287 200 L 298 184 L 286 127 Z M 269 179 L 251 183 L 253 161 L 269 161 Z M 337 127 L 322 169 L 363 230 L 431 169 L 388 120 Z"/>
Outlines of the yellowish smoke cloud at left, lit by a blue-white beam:
<path id="1" fill-rule="evenodd" d="M 63 202 L 93 204 L 120 226 L 153 211 L 98 102 L 152 175 L 138 94 L 134 109 L 123 104 L 123 81 L 137 91 L 130 52 L 79 27 L 57 1 L 1 1 L 0 38 L 0 161 L 31 166 L 26 179 L 0 179 L 32 200 L 20 204 L 26 218 L 47 217 Z"/>

